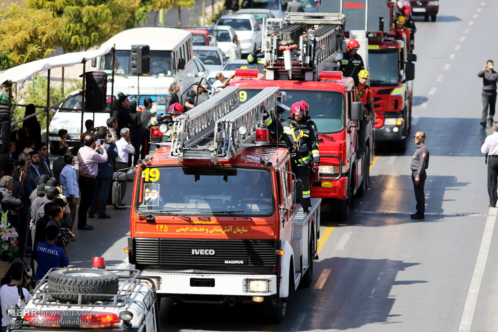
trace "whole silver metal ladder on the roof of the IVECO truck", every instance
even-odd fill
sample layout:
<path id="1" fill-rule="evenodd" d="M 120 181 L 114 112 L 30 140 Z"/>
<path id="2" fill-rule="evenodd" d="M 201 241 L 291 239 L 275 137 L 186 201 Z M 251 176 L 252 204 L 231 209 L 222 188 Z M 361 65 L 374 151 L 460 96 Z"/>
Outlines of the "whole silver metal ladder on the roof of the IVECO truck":
<path id="1" fill-rule="evenodd" d="M 261 113 L 277 118 L 278 87 L 263 89 L 242 106 L 238 89 L 228 87 L 175 119 L 171 158 L 180 162 L 211 159 L 216 163 L 254 143 L 256 129 L 264 127 Z"/>

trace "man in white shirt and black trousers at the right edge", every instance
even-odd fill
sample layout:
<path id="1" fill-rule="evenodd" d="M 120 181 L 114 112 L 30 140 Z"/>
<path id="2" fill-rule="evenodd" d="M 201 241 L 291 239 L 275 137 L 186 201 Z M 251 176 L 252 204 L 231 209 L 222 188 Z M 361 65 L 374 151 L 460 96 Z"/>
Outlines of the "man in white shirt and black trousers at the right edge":
<path id="1" fill-rule="evenodd" d="M 488 195 L 490 207 L 497 205 L 498 184 L 498 122 L 493 123 L 493 133 L 486 137 L 481 152 L 488 155 Z"/>

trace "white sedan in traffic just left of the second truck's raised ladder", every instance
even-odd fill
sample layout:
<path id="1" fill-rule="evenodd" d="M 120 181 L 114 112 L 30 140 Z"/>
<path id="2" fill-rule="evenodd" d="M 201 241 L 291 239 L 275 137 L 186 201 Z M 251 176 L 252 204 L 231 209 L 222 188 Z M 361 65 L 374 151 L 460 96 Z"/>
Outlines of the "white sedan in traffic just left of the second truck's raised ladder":
<path id="1" fill-rule="evenodd" d="M 234 28 L 243 55 L 261 47 L 261 28 L 252 14 L 223 15 L 216 25 L 229 25 Z"/>

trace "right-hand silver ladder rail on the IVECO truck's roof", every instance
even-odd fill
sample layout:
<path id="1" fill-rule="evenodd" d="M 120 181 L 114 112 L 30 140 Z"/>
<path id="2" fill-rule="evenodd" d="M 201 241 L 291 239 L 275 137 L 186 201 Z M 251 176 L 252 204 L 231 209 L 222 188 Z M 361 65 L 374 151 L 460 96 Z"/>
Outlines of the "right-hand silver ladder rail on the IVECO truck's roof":
<path id="1" fill-rule="evenodd" d="M 216 121 L 216 158 L 229 159 L 237 155 L 244 144 L 254 142 L 256 129 L 263 127 L 261 111 L 277 118 L 277 93 L 278 87 L 264 88 L 244 105 Z M 241 126 L 247 128 L 244 135 L 239 132 Z"/>

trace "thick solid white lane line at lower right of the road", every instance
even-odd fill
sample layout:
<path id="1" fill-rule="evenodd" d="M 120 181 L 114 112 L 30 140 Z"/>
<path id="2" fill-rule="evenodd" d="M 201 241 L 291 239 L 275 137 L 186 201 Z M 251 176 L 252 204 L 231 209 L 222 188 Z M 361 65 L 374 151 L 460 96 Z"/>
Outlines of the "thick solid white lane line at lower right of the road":
<path id="1" fill-rule="evenodd" d="M 497 208 L 490 208 L 488 219 L 486 220 L 486 225 L 484 226 L 484 234 L 481 241 L 481 247 L 479 248 L 479 254 L 477 256 L 476 267 L 474 268 L 469 293 L 467 294 L 467 300 L 465 301 L 464 312 L 462 314 L 462 320 L 460 321 L 460 328 L 458 329 L 459 332 L 469 332 L 472 325 L 474 311 L 476 310 L 477 297 L 479 295 L 479 289 L 481 288 L 481 281 L 483 280 L 486 261 L 488 260 L 488 253 L 490 252 L 491 239 L 493 237 L 493 229 L 495 228 L 497 220 L 497 213 Z"/>

